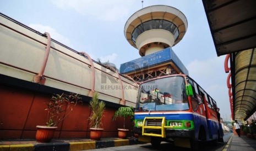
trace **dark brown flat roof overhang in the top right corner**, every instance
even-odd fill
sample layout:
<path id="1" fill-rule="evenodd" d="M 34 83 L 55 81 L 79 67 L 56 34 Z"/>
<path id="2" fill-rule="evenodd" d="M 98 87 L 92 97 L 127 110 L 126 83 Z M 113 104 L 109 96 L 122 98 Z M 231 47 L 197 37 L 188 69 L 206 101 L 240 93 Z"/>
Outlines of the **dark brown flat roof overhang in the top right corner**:
<path id="1" fill-rule="evenodd" d="M 255 0 L 203 0 L 218 56 L 256 47 Z"/>

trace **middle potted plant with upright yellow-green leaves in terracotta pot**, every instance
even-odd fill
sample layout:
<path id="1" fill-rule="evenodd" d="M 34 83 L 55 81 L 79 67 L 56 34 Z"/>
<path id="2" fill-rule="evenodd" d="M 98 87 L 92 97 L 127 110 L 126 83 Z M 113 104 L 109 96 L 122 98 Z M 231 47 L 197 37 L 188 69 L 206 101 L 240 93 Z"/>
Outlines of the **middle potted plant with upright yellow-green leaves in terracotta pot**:
<path id="1" fill-rule="evenodd" d="M 102 131 L 104 129 L 101 129 L 101 125 L 105 106 L 106 104 L 103 101 L 99 101 L 99 93 L 94 92 L 94 95 L 92 96 L 89 103 L 89 107 L 91 109 L 91 113 L 89 116 L 91 140 L 99 141 L 102 136 Z"/>

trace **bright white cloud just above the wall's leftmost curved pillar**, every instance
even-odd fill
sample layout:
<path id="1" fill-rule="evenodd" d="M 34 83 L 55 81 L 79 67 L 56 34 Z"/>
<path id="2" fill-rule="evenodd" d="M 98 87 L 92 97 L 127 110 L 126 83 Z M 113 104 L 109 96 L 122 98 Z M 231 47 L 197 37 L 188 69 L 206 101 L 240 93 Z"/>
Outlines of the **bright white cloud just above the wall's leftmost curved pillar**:
<path id="1" fill-rule="evenodd" d="M 70 41 L 68 38 L 62 36 L 59 34 L 54 28 L 50 26 L 43 26 L 41 24 L 30 24 L 29 27 L 33 28 L 34 30 L 37 30 L 41 33 L 48 32 L 52 39 L 57 40 L 58 42 L 67 45 L 68 47 L 72 47 Z"/>

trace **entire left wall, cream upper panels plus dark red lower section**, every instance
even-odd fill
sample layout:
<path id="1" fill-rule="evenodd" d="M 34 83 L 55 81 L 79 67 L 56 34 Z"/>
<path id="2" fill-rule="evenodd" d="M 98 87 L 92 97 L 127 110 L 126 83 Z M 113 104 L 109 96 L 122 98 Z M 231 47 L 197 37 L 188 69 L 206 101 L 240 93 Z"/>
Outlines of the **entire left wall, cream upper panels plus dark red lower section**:
<path id="1" fill-rule="evenodd" d="M 51 33 L 50 33 L 51 34 Z M 67 46 L 51 40 L 50 54 L 43 77 L 33 78 L 41 69 L 47 37 L 0 15 L 0 139 L 35 138 L 36 125 L 46 123 L 45 102 L 52 94 L 74 92 L 83 96 L 70 117 L 58 125 L 56 138 L 88 137 L 92 84 L 100 100 L 107 104 L 104 137 L 117 136 L 119 120 L 112 122 L 122 98 L 126 106 L 135 106 L 137 84 L 94 61 L 95 83 L 89 59 Z M 122 87 L 123 85 L 123 87 Z M 122 91 L 124 90 L 124 92 Z M 131 123 L 128 123 L 131 128 Z"/>

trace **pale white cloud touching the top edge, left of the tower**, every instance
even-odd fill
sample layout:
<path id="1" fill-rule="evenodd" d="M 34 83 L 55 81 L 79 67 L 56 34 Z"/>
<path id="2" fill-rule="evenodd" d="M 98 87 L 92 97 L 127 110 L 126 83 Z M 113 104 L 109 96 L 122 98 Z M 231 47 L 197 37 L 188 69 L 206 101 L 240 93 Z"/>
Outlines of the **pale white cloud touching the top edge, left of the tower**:
<path id="1" fill-rule="evenodd" d="M 81 15 L 90 15 L 97 19 L 113 21 L 126 15 L 129 12 L 129 6 L 134 1 L 52 0 L 51 2 L 63 10 L 74 9 Z"/>

